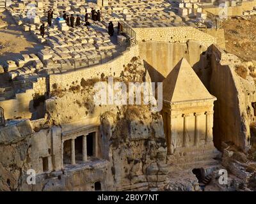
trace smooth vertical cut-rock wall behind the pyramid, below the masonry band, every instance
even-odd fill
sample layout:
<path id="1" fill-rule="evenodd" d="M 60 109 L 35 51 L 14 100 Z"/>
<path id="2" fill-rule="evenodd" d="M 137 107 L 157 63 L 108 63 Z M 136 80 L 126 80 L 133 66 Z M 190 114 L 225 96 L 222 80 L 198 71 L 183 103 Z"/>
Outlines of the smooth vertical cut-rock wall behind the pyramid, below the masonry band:
<path id="1" fill-rule="evenodd" d="M 168 43 L 157 41 L 138 42 L 140 57 L 152 82 L 162 82 L 174 66 L 184 57 L 204 84 L 209 82 L 209 71 L 205 52 L 207 47 L 198 41 Z M 207 85 L 205 85 L 207 86 Z"/>

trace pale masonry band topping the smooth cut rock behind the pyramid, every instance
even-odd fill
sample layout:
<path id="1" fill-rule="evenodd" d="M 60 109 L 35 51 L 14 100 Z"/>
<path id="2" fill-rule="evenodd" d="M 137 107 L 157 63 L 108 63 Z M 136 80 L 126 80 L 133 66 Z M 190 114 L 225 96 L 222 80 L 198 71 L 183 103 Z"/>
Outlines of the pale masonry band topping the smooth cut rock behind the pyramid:
<path id="1" fill-rule="evenodd" d="M 194 27 L 145 27 L 133 28 L 138 41 L 180 42 L 188 40 L 200 41 L 205 47 L 216 43 L 216 39 L 209 34 L 198 31 Z"/>

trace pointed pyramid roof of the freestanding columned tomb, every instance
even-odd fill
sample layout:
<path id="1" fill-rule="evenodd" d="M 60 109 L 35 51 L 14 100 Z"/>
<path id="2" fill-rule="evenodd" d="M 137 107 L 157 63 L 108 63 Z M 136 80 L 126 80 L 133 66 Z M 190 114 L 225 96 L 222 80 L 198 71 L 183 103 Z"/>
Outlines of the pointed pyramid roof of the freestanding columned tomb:
<path id="1" fill-rule="evenodd" d="M 163 99 L 169 102 L 212 99 L 188 61 L 182 58 L 163 80 Z"/>

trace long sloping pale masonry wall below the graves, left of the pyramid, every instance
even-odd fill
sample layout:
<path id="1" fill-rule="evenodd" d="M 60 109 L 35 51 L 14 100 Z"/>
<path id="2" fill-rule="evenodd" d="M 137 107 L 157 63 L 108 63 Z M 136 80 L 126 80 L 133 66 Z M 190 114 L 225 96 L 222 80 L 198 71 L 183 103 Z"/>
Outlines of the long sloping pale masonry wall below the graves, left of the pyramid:
<path id="1" fill-rule="evenodd" d="M 54 74 L 49 77 L 49 89 L 53 90 L 52 85 L 56 84 L 61 89 L 67 87 L 76 81 L 80 82 L 82 78 L 88 80 L 90 78 L 100 78 L 102 73 L 104 76 L 120 76 L 124 64 L 128 64 L 132 57 L 138 56 L 138 46 L 134 46 L 126 50 L 122 55 L 116 57 L 112 61 L 104 64 L 99 64 L 92 66 L 90 68 L 79 69 L 77 71 L 72 71 L 63 74 Z"/>

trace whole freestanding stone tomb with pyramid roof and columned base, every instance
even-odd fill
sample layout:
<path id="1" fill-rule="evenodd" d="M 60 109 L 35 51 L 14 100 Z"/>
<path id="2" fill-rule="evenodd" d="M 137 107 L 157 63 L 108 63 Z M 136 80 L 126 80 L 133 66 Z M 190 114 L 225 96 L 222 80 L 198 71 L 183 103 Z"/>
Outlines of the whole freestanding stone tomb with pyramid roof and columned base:
<path id="1" fill-rule="evenodd" d="M 188 61 L 181 59 L 163 81 L 162 115 L 169 155 L 184 152 L 200 154 L 204 149 L 214 152 L 215 100 Z"/>

